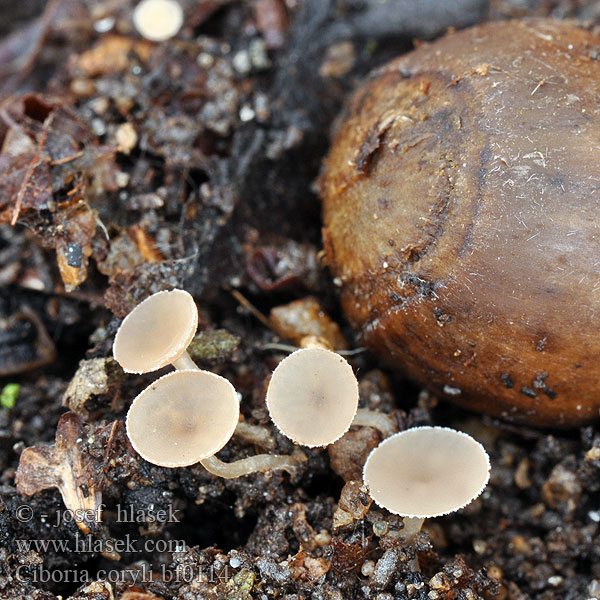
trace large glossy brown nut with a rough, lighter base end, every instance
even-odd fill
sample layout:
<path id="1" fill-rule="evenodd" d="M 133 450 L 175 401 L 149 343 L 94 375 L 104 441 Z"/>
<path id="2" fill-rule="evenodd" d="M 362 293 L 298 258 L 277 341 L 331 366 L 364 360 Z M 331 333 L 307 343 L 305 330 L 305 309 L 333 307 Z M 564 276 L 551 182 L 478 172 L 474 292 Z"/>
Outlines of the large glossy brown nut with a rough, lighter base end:
<path id="1" fill-rule="evenodd" d="M 361 343 L 440 395 L 573 426 L 600 409 L 600 38 L 452 33 L 374 71 L 320 180 Z"/>

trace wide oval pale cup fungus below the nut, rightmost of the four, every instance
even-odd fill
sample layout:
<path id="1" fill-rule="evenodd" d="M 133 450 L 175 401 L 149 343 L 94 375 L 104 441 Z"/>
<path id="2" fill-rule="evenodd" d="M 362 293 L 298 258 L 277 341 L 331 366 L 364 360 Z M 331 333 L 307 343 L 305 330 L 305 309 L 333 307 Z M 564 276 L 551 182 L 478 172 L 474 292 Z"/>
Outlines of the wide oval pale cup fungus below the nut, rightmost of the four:
<path id="1" fill-rule="evenodd" d="M 490 461 L 471 436 L 446 427 L 415 427 L 375 448 L 363 480 L 376 504 L 404 516 L 404 537 L 423 520 L 459 510 L 473 501 L 489 480 Z"/>

